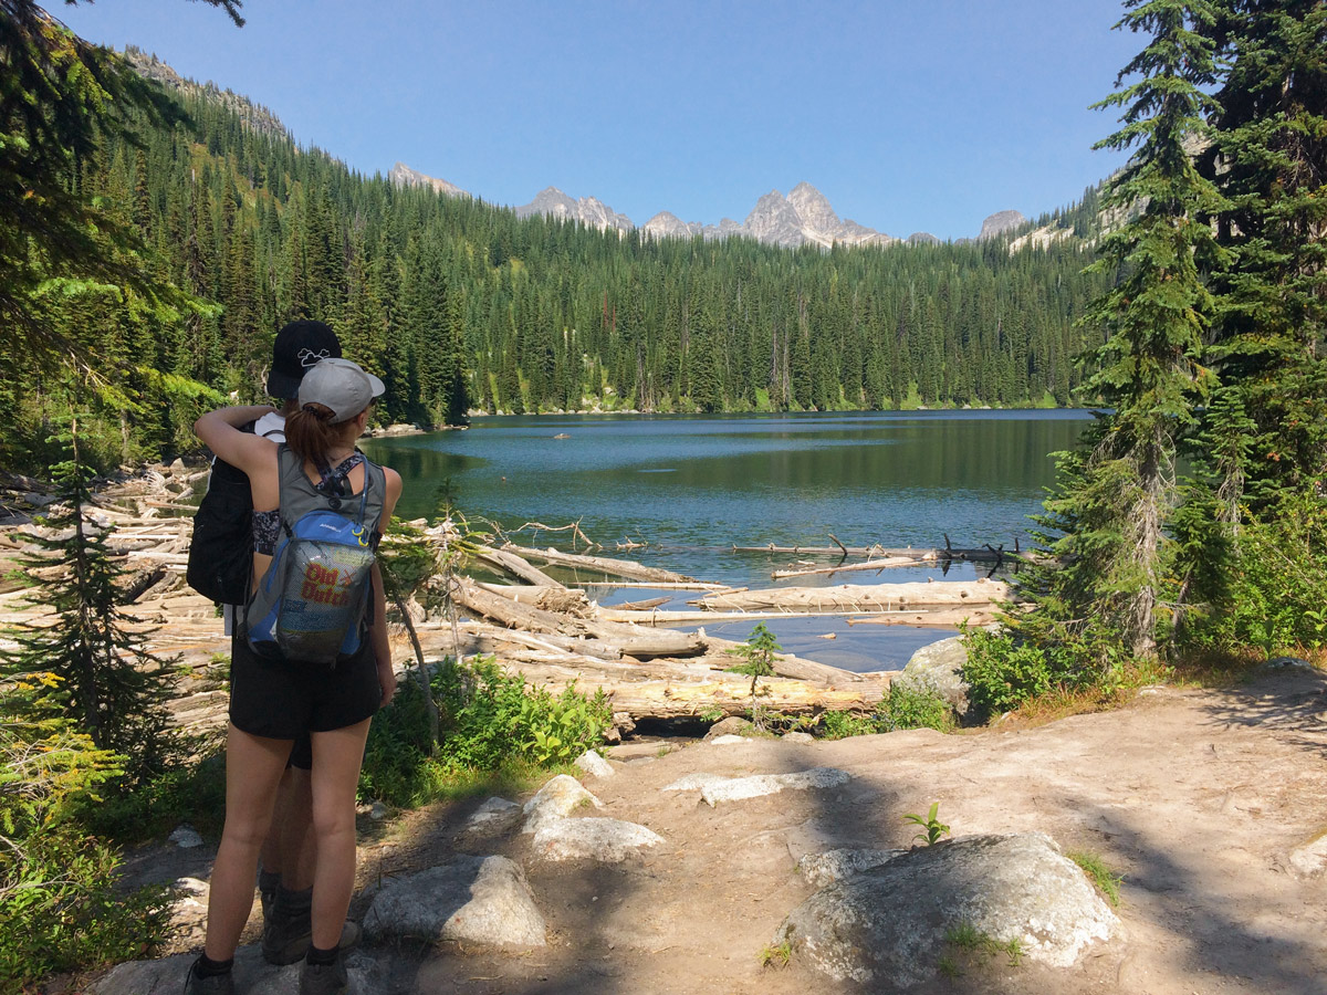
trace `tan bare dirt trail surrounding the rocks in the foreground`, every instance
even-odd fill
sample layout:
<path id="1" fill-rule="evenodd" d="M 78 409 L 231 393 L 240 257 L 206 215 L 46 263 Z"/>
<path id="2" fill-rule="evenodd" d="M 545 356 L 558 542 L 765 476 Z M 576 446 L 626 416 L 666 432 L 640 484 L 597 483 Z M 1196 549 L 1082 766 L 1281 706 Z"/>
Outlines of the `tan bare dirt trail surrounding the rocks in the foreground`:
<path id="1" fill-rule="evenodd" d="M 1035 728 L 697 743 L 658 758 L 621 751 L 632 752 L 616 776 L 584 779 L 605 805 L 593 815 L 642 823 L 666 845 L 617 866 L 541 864 L 519 834 L 470 848 L 524 865 L 549 946 L 520 955 L 370 949 L 385 970 L 381 990 L 855 991 L 796 958 L 782 970 L 759 964 L 782 918 L 811 894 L 795 862 L 832 846 L 906 846 L 902 815 L 940 801 L 955 836 L 1043 830 L 1064 850 L 1100 854 L 1125 878 L 1124 930 L 1071 971 L 977 961 L 928 992 L 1327 991 L 1327 881 L 1300 877 L 1289 861 L 1327 830 L 1327 679 L 1315 671 L 1233 690 L 1145 691 L 1120 711 Z M 852 780 L 713 809 L 698 792 L 661 792 L 699 771 L 809 767 L 841 768 Z M 411 813 L 366 840 L 364 878 L 446 860 L 479 801 Z"/>

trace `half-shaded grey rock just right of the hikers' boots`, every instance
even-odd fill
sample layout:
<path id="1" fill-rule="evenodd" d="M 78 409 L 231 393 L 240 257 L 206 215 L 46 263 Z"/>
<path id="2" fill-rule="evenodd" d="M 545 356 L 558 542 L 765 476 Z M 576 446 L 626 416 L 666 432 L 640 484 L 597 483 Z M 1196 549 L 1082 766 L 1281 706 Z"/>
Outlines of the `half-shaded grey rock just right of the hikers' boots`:
<path id="1" fill-rule="evenodd" d="M 364 917 L 370 939 L 419 937 L 487 946 L 541 947 L 544 917 L 520 866 L 506 857 L 456 856 L 449 864 L 387 878 Z"/>

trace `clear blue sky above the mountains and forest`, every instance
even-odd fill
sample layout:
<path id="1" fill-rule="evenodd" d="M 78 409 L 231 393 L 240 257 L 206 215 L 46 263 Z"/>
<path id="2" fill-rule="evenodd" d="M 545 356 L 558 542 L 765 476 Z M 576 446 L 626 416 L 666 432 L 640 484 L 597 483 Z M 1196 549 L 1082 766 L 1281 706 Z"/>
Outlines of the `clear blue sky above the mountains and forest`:
<path id="1" fill-rule="evenodd" d="M 486 200 L 545 186 L 637 224 L 746 218 L 816 186 L 894 236 L 1036 215 L 1121 162 L 1088 105 L 1141 38 L 1119 0 L 183 0 L 49 9 L 273 110 L 366 174 L 398 159 Z"/>

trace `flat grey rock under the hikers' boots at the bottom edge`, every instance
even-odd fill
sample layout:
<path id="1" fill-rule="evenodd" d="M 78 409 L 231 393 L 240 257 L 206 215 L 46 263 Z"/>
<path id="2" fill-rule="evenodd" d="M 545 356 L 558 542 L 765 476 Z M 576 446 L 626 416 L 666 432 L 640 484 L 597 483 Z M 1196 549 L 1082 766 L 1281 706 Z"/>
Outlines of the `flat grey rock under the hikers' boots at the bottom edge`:
<path id="1" fill-rule="evenodd" d="M 90 995 L 179 995 L 184 990 L 188 966 L 196 954 L 176 954 L 161 961 L 129 961 L 111 968 L 92 986 Z M 386 992 L 386 976 L 378 962 L 364 951 L 352 951 L 345 961 L 346 995 Z M 300 964 L 272 967 L 255 943 L 235 951 L 236 991 L 261 995 L 299 995 Z"/>

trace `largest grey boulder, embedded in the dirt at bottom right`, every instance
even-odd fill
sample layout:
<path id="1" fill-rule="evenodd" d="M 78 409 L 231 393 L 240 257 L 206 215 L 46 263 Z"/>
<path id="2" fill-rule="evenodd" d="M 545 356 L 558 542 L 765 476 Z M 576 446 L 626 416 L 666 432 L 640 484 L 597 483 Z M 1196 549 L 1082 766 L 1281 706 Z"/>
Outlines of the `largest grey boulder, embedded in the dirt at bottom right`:
<path id="1" fill-rule="evenodd" d="M 946 931 L 966 925 L 1023 955 L 1070 967 L 1119 919 L 1042 833 L 970 836 L 922 846 L 816 892 L 775 934 L 839 980 L 929 982 Z"/>

